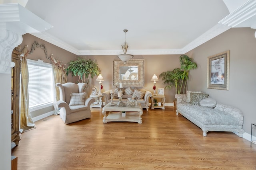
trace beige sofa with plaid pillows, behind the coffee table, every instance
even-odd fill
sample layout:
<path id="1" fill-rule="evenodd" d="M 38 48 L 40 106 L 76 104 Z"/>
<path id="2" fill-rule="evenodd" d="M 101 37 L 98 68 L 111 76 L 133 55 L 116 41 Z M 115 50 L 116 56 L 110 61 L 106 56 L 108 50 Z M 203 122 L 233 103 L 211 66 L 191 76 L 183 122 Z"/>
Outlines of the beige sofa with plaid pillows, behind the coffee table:
<path id="1" fill-rule="evenodd" d="M 106 92 L 102 93 L 102 96 L 105 100 L 105 104 L 111 101 L 110 91 L 113 93 L 113 101 L 118 102 L 118 92 L 122 90 L 122 102 L 127 102 L 128 98 L 137 99 L 137 102 L 141 104 L 142 108 L 147 109 L 149 108 L 149 98 L 152 96 L 152 93 L 146 89 L 137 89 L 137 88 L 115 88 L 111 90 L 107 90 Z"/>

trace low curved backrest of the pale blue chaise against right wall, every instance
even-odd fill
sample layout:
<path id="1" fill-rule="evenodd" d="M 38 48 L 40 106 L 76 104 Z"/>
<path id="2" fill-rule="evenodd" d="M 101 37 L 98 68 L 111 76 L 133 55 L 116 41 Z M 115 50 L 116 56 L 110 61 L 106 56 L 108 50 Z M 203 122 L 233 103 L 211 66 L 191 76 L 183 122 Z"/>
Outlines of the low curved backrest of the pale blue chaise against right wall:
<path id="1" fill-rule="evenodd" d="M 244 115 L 240 109 L 238 109 L 234 106 L 224 105 L 224 104 L 220 104 L 220 103 L 217 103 L 217 105 L 214 107 L 214 109 L 217 109 L 224 113 L 228 113 L 230 115 L 233 115 L 239 121 L 239 125 L 241 125 L 241 126 L 243 125 Z"/>

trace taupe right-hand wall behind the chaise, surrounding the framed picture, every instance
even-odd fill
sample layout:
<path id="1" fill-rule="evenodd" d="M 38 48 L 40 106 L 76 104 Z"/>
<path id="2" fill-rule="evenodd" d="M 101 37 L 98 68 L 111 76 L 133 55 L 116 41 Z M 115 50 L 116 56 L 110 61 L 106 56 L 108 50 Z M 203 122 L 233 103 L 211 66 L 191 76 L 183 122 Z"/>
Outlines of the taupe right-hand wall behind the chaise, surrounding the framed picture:
<path id="1" fill-rule="evenodd" d="M 251 133 L 256 123 L 256 38 L 255 29 L 232 28 L 188 53 L 198 64 L 190 72 L 188 90 L 203 91 L 223 104 L 238 107 L 244 114 L 243 129 Z M 229 90 L 207 88 L 207 58 L 230 50 Z M 256 135 L 256 133 L 254 134 Z"/>

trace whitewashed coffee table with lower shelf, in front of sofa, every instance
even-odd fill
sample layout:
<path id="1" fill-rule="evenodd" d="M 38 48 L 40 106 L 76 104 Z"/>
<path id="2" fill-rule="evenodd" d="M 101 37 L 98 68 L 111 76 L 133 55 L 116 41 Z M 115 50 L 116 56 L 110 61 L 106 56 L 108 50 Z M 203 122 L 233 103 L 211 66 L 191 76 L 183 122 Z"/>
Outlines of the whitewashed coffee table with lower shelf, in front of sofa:
<path id="1" fill-rule="evenodd" d="M 125 117 L 122 117 L 122 111 L 126 112 Z M 107 112 L 108 115 L 106 114 Z M 104 115 L 103 123 L 110 121 L 130 121 L 141 124 L 143 110 L 140 103 L 138 103 L 137 106 L 127 105 L 127 103 L 121 103 L 119 106 L 116 104 L 111 106 L 110 103 L 108 103 L 102 108 L 102 114 Z"/>

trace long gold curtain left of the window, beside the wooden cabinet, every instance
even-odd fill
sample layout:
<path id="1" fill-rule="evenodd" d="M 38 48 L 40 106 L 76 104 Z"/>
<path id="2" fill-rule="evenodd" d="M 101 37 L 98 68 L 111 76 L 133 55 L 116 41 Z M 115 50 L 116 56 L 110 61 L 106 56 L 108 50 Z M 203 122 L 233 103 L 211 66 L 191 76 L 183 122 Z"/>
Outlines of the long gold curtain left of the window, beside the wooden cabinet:
<path id="1" fill-rule="evenodd" d="M 28 131 L 35 127 L 34 121 L 30 115 L 29 110 L 29 96 L 28 96 L 28 64 L 26 56 L 28 55 L 28 50 L 26 47 L 22 51 L 24 57 L 21 61 L 21 88 L 20 88 L 20 128 L 24 131 Z M 23 131 L 23 132 L 24 132 Z"/>

